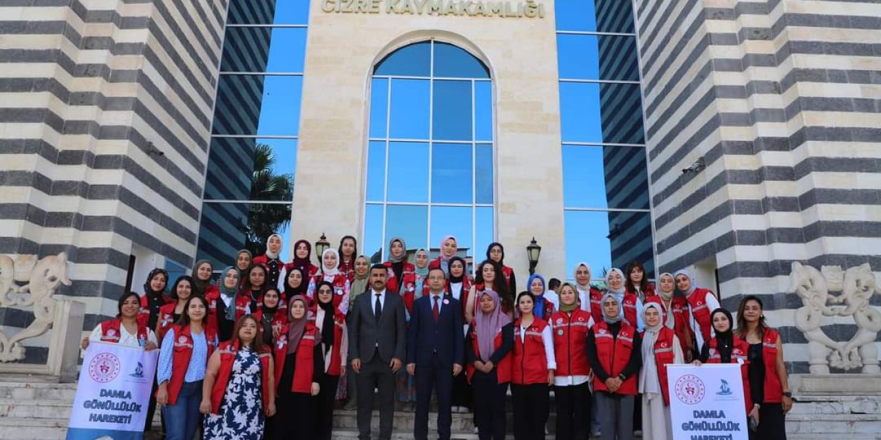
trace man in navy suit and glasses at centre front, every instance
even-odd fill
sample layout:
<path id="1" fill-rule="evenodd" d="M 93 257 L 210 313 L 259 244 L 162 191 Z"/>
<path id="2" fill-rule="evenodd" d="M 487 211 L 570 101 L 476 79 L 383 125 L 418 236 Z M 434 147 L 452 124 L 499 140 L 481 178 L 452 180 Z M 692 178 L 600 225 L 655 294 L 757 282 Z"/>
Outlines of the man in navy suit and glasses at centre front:
<path id="1" fill-rule="evenodd" d="M 407 372 L 416 376 L 416 440 L 428 438 L 428 406 L 432 389 L 438 400 L 438 434 L 449 440 L 453 414 L 453 377 L 462 374 L 464 352 L 462 305 L 444 294 L 447 277 L 441 268 L 428 272 L 425 297 L 413 304 L 407 332 Z"/>

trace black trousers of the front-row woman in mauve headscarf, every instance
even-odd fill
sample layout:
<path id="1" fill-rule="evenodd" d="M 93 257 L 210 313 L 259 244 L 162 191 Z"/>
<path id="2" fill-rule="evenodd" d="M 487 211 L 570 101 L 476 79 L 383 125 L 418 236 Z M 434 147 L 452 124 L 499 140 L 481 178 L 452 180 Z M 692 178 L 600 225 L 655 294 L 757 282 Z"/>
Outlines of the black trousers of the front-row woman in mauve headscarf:
<path id="1" fill-rule="evenodd" d="M 480 440 L 505 440 L 507 382 L 500 384 L 495 370 L 489 374 L 474 371 L 471 387 L 474 389 L 478 437 Z"/>

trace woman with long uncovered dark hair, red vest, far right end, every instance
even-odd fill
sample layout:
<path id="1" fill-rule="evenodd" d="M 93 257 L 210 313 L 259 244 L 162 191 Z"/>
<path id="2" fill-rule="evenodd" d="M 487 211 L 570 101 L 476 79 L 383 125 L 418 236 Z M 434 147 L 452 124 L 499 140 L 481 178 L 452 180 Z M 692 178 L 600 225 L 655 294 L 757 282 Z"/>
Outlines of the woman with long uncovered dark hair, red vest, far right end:
<path id="1" fill-rule="evenodd" d="M 752 404 L 759 407 L 759 429 L 751 440 L 786 440 L 786 414 L 792 409 L 792 392 L 780 332 L 766 325 L 759 297 L 749 295 L 737 306 L 737 339 L 749 344 L 748 375 Z"/>

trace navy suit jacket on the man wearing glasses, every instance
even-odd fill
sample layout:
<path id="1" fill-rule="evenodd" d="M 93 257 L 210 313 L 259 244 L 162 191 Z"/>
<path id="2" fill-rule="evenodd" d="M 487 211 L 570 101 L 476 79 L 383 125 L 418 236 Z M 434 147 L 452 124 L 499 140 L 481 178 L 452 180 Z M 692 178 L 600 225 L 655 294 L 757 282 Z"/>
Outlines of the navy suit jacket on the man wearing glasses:
<path id="1" fill-rule="evenodd" d="M 434 304 L 430 293 L 413 304 L 407 330 L 407 363 L 431 365 L 436 351 L 442 366 L 452 371 L 454 363 L 464 366 L 462 305 L 450 295 L 441 298 L 443 304 L 438 322 L 434 322 Z"/>

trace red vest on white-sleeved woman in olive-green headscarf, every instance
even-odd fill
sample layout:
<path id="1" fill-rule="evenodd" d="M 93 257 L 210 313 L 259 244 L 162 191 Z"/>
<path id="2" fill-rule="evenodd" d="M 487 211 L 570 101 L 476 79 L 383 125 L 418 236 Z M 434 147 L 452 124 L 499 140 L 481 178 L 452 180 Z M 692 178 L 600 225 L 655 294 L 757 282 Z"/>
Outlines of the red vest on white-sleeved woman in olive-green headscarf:
<path id="1" fill-rule="evenodd" d="M 557 376 L 588 376 L 588 332 L 590 312 L 576 308 L 570 317 L 566 312 L 551 315 L 553 348 L 557 356 Z"/>

